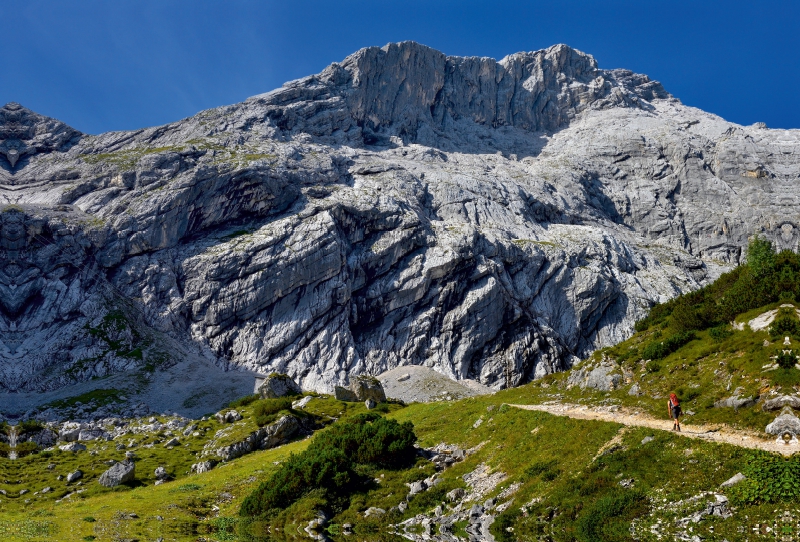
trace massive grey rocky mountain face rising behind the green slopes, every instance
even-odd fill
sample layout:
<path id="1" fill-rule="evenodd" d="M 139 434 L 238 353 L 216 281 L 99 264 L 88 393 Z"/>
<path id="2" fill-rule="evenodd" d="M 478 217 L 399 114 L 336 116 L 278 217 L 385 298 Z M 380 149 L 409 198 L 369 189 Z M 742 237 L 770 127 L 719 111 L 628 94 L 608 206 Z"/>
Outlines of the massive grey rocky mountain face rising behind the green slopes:
<path id="1" fill-rule="evenodd" d="M 800 132 L 564 45 L 363 49 L 134 132 L 0 118 L 5 392 L 186 356 L 320 391 L 404 364 L 513 386 L 627 337 L 748 236 L 798 242 Z"/>

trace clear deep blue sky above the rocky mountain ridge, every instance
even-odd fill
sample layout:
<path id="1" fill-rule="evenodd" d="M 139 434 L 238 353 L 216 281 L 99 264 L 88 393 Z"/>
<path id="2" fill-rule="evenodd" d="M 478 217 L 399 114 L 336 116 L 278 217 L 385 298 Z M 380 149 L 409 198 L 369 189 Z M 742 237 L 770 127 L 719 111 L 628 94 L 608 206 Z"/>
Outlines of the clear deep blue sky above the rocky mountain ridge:
<path id="1" fill-rule="evenodd" d="M 800 2 L 2 2 L 0 103 L 87 133 L 163 124 L 416 40 L 491 56 L 566 43 L 741 124 L 800 128 Z"/>

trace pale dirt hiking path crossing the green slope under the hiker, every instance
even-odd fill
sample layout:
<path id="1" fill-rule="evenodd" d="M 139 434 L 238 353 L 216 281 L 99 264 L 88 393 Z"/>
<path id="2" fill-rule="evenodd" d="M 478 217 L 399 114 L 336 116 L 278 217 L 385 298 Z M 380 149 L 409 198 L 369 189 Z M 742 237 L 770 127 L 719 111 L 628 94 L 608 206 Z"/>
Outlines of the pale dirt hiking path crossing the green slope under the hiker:
<path id="1" fill-rule="evenodd" d="M 514 405 L 509 406 L 521 408 L 523 410 L 538 410 L 556 416 L 567 416 L 578 420 L 599 420 L 604 422 L 615 422 L 634 427 L 648 427 L 657 431 L 671 431 L 672 423 L 667 419 L 652 418 L 643 414 L 636 414 L 621 408 L 614 407 L 589 407 L 586 405 L 576 405 L 570 403 L 545 403 L 538 405 Z M 681 423 L 681 432 L 676 433 L 682 437 L 708 440 L 711 442 L 724 442 L 742 448 L 752 448 L 777 452 L 783 455 L 792 455 L 800 451 L 800 446 L 796 444 L 778 443 L 775 438 L 766 438 L 764 433 L 756 431 L 743 431 L 731 429 L 721 424 L 715 425 L 696 425 Z"/>

